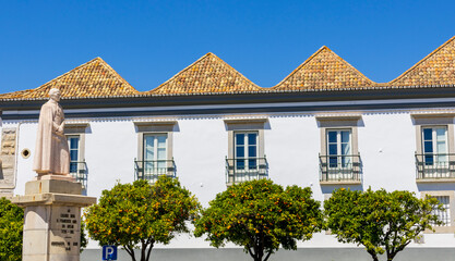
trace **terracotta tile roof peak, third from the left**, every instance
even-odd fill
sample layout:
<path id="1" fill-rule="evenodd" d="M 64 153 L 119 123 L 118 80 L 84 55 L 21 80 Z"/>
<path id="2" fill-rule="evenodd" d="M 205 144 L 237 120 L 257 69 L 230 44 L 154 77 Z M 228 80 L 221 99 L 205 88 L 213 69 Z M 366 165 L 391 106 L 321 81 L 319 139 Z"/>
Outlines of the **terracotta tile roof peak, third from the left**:
<path id="1" fill-rule="evenodd" d="M 375 83 L 324 46 L 272 89 L 330 90 L 368 88 L 374 85 Z"/>

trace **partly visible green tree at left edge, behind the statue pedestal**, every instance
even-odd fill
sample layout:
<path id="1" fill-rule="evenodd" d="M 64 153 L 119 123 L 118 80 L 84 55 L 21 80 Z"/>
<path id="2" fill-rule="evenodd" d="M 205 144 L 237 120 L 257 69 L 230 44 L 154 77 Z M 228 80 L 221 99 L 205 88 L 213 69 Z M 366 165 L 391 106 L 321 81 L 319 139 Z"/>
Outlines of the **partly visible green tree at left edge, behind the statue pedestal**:
<path id="1" fill-rule="evenodd" d="M 0 198 L 0 260 L 22 260 L 24 210 Z"/>

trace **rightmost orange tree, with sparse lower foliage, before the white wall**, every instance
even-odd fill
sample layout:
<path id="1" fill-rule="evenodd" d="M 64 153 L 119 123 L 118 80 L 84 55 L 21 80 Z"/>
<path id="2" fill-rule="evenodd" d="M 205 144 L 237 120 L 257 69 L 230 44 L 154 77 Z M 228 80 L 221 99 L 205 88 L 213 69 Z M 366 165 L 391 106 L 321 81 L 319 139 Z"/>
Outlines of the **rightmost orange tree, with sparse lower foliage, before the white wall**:
<path id="1" fill-rule="evenodd" d="M 441 224 L 432 214 L 436 208 L 442 207 L 435 198 L 371 188 L 364 192 L 340 188 L 324 202 L 326 226 L 338 241 L 364 246 L 375 261 L 384 252 L 393 260 L 420 233 Z"/>

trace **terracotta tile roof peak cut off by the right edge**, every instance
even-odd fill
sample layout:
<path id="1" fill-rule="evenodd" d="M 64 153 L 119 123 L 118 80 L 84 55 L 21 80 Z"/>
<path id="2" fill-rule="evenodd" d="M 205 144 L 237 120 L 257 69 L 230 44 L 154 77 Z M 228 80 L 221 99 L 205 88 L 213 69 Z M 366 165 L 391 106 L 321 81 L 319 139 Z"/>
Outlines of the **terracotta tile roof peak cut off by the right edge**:
<path id="1" fill-rule="evenodd" d="M 455 36 L 387 85 L 455 85 Z"/>

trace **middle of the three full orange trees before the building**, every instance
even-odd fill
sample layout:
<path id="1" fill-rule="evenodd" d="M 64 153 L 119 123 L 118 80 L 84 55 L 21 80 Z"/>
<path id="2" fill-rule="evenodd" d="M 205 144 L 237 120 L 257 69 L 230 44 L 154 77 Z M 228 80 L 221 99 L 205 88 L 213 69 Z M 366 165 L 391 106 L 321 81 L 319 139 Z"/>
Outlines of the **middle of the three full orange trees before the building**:
<path id="1" fill-rule="evenodd" d="M 244 247 L 254 261 L 266 261 L 282 246 L 297 249 L 321 231 L 320 202 L 310 188 L 284 189 L 270 179 L 230 186 L 209 202 L 195 223 L 194 235 L 206 234 L 214 247 L 227 241 Z"/>

